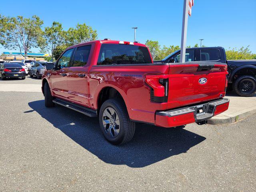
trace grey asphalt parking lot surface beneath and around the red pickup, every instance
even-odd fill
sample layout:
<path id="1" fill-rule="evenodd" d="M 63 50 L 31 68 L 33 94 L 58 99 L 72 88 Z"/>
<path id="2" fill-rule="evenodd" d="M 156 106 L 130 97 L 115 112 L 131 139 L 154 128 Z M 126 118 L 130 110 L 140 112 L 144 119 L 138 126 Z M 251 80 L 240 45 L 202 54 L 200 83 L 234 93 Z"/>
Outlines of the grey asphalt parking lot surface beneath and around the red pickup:
<path id="1" fill-rule="evenodd" d="M 40 83 L 0 81 L 0 90 Z M 256 191 L 256 115 L 221 126 L 137 124 L 131 142 L 113 146 L 97 118 L 45 108 L 39 91 L 0 99 L 0 191 Z"/>

